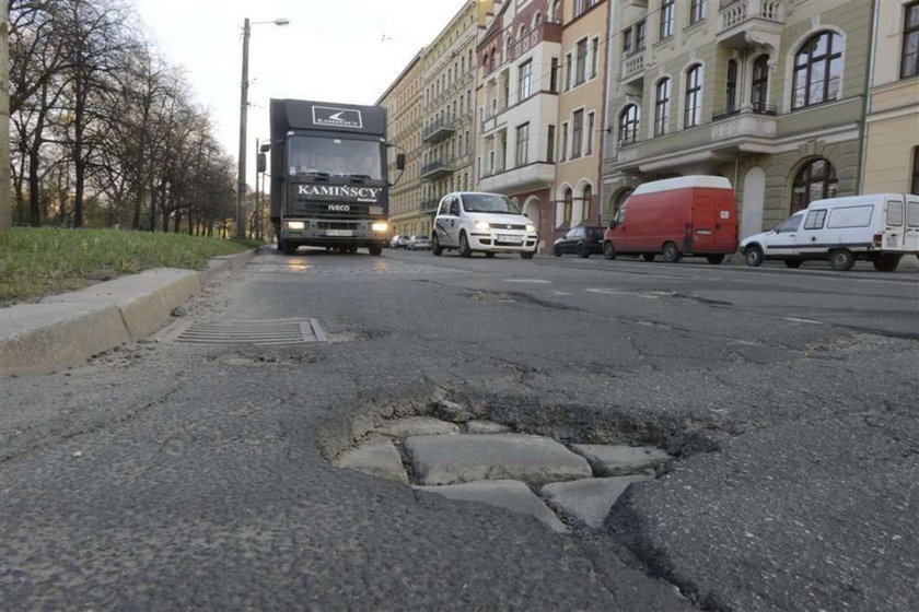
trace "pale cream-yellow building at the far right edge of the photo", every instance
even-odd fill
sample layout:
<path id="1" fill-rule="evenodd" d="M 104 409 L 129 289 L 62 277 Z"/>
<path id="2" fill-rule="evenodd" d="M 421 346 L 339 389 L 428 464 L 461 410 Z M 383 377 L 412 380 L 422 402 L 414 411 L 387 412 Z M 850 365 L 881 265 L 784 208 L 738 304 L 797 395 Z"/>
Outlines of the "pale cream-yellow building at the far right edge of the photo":
<path id="1" fill-rule="evenodd" d="M 875 10 L 863 191 L 919 193 L 919 1 Z"/>

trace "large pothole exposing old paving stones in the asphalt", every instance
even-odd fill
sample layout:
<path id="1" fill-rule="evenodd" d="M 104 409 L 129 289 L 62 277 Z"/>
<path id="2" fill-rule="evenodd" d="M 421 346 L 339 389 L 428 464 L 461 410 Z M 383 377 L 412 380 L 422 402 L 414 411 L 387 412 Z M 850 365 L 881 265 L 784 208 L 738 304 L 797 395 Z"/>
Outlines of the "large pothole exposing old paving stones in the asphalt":
<path id="1" fill-rule="evenodd" d="M 572 436 L 555 411 L 509 422 L 500 409 L 444 396 L 357 409 L 347 443 L 321 432 L 323 452 L 335 467 L 531 515 L 561 533 L 601 528 L 629 486 L 663 475 L 675 459 L 653 443 L 661 435 L 650 424 L 593 414 Z"/>

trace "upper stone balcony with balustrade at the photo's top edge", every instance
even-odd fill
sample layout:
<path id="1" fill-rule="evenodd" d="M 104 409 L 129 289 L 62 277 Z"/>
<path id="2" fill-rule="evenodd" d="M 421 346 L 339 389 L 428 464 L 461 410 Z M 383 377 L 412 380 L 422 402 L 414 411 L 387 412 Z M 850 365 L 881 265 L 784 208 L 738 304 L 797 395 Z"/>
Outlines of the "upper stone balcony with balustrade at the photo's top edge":
<path id="1" fill-rule="evenodd" d="M 721 0 L 718 20 L 716 38 L 725 47 L 766 45 L 778 49 L 784 26 L 784 0 Z"/>

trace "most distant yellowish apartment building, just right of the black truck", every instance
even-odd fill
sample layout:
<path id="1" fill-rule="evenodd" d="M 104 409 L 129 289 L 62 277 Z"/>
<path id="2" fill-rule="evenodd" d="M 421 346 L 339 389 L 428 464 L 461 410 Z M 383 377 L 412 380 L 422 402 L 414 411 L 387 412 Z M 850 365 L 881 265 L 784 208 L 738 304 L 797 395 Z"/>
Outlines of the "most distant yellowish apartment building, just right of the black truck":
<path id="1" fill-rule="evenodd" d="M 421 133 L 424 122 L 421 79 L 423 49 L 416 55 L 376 104 L 387 110 L 387 142 L 389 150 L 389 180 L 399 177 L 396 155 L 406 156 L 405 172 L 389 190 L 389 225 L 393 234 L 416 234 L 422 201 Z"/>

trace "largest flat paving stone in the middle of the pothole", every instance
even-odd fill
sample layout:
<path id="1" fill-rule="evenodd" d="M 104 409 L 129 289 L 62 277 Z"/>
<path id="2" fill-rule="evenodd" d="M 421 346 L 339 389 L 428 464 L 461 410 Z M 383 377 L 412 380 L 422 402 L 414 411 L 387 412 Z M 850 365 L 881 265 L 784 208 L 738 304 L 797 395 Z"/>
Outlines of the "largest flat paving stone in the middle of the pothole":
<path id="1" fill-rule="evenodd" d="M 583 457 L 544 436 L 416 436 L 405 449 L 421 484 L 511 479 L 539 486 L 593 475 Z"/>

